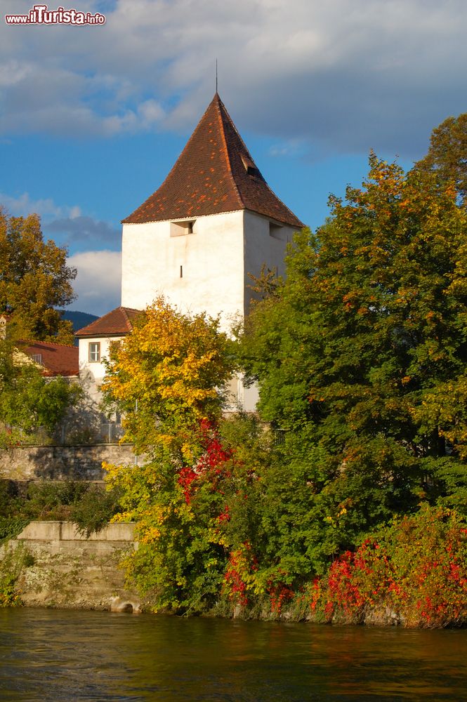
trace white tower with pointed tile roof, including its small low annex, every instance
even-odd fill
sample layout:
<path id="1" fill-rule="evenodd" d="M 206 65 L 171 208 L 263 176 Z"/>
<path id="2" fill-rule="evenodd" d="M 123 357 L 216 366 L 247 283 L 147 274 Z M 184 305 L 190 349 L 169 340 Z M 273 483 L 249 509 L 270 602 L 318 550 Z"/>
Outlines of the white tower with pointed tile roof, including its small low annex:
<path id="1" fill-rule="evenodd" d="M 122 224 L 122 306 L 77 334 L 80 368 L 97 384 L 111 340 L 160 295 L 182 312 L 220 315 L 230 329 L 248 312 L 251 275 L 263 266 L 284 272 L 287 243 L 303 227 L 266 183 L 218 93 L 164 183 Z M 232 392 L 254 409 L 254 389 L 235 380 Z"/>

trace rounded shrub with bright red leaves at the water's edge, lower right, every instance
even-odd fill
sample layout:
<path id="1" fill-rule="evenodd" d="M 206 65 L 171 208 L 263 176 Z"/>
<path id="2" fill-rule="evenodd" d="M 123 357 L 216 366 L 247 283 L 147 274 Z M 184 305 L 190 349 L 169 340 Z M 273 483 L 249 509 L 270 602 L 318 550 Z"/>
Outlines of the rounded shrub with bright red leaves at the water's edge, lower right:
<path id="1" fill-rule="evenodd" d="M 360 623 L 375 611 L 406 626 L 467 622 L 467 524 L 453 510 L 423 505 L 338 557 L 308 588 L 325 621 Z"/>

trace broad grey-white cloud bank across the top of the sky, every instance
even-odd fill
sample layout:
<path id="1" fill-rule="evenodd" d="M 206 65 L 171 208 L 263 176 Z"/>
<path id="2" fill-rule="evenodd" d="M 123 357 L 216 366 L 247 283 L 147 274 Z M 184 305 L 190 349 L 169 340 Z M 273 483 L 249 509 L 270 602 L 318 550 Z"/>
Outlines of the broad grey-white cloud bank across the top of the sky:
<path id="1" fill-rule="evenodd" d="M 28 1 L 4 0 L 5 12 Z M 189 129 L 219 89 L 242 128 L 416 151 L 465 110 L 464 0 L 84 0 L 103 27 L 0 27 L 0 131 Z M 14 38 L 14 41 L 13 41 Z"/>

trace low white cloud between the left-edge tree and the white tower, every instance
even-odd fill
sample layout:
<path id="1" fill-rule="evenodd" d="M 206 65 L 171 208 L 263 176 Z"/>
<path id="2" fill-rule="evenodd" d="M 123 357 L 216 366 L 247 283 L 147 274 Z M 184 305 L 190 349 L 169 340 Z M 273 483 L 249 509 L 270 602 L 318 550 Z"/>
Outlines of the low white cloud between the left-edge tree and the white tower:
<path id="1" fill-rule="evenodd" d="M 85 251 L 68 259 L 78 271 L 74 280 L 77 300 L 72 308 L 101 316 L 120 304 L 121 253 L 119 251 Z"/>

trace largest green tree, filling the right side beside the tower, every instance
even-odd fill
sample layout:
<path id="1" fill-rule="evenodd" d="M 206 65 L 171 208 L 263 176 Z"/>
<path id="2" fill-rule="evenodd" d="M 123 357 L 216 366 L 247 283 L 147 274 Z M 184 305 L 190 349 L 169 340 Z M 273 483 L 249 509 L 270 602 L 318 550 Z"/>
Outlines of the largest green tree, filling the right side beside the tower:
<path id="1" fill-rule="evenodd" d="M 284 437 L 261 510 L 280 525 L 267 548 L 285 573 L 291 555 L 296 572 L 299 557 L 322 570 L 465 482 L 466 213 L 433 174 L 374 155 L 370 167 L 324 226 L 298 234 L 242 342 L 261 416 Z"/>

